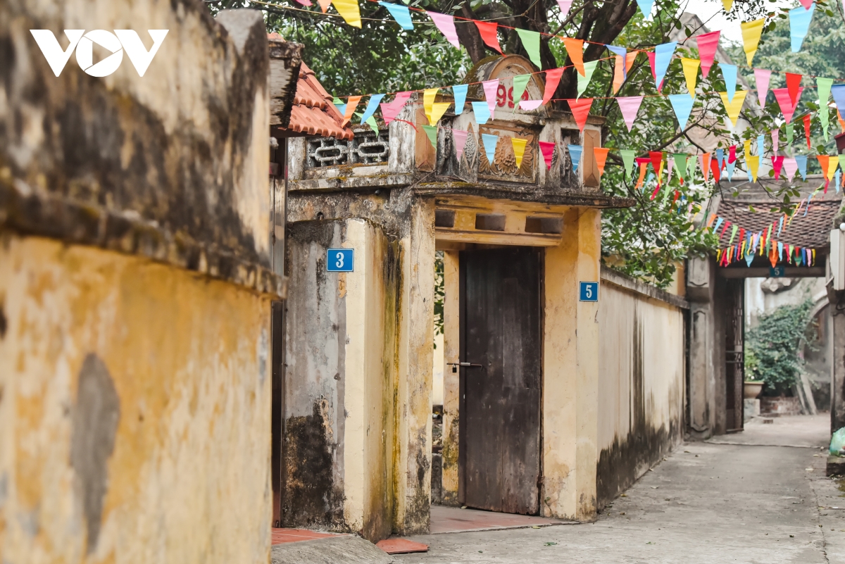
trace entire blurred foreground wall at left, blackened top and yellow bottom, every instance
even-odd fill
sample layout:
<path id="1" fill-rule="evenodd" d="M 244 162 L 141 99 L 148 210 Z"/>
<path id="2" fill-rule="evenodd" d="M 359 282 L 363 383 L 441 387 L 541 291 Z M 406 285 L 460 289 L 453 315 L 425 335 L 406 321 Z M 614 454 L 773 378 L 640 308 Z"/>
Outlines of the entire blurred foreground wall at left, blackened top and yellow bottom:
<path id="1" fill-rule="evenodd" d="M 30 33 L 116 29 L 143 77 Z M 0 561 L 269 561 L 261 14 L 0 3 L 0 53 Z"/>

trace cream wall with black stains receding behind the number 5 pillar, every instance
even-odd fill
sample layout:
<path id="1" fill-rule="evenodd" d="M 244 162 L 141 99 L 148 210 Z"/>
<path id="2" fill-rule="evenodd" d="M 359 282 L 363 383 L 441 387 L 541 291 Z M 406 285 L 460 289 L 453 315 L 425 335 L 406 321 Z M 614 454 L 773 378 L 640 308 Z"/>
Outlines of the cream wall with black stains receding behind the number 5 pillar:
<path id="1" fill-rule="evenodd" d="M 602 280 L 597 503 L 604 507 L 683 438 L 684 313 Z"/>

